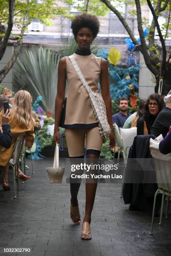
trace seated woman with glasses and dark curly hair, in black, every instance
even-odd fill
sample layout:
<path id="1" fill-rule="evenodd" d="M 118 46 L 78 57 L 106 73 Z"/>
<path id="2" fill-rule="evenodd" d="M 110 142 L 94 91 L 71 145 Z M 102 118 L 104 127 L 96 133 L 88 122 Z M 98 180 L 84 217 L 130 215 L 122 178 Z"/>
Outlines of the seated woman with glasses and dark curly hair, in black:
<path id="1" fill-rule="evenodd" d="M 145 102 L 144 114 L 137 121 L 137 135 L 150 134 L 151 127 L 160 111 L 165 107 L 163 97 L 157 93 L 151 94 Z"/>

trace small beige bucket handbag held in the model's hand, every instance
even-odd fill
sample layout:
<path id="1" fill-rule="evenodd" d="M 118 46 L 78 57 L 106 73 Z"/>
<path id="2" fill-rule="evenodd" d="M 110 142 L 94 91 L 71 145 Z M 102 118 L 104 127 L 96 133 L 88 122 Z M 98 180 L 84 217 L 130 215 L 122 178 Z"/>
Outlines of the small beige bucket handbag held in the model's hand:
<path id="1" fill-rule="evenodd" d="M 65 171 L 64 167 L 59 167 L 59 146 L 56 143 L 55 155 L 54 155 L 54 166 L 47 168 L 50 183 L 62 183 L 64 171 Z"/>

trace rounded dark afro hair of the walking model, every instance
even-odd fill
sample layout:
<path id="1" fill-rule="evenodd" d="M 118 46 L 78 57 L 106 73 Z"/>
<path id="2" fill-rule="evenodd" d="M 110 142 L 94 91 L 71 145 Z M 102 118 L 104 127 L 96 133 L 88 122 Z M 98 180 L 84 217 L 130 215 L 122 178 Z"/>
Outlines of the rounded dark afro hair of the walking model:
<path id="1" fill-rule="evenodd" d="M 92 31 L 94 39 L 99 32 L 99 27 L 100 23 L 98 18 L 94 15 L 87 13 L 81 13 L 79 15 L 76 15 L 71 22 L 71 29 L 75 39 L 80 28 L 89 28 Z"/>

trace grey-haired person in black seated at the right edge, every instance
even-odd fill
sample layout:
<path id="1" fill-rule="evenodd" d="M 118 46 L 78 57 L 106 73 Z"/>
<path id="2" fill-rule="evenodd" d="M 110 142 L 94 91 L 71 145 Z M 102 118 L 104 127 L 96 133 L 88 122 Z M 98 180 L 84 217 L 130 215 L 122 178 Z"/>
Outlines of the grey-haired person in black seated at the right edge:
<path id="1" fill-rule="evenodd" d="M 168 129 L 171 126 L 171 90 L 168 95 L 164 97 L 166 107 L 156 117 L 156 120 L 151 127 L 151 134 L 158 137 L 160 134 L 163 138 L 167 135 Z"/>

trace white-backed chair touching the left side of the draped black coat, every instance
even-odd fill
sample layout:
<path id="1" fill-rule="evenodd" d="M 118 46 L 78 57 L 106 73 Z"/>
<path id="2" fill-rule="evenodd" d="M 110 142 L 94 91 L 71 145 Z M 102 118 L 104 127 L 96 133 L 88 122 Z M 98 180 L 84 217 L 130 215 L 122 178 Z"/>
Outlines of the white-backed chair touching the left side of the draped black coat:
<path id="1" fill-rule="evenodd" d="M 137 136 L 137 128 L 132 127 L 128 129 L 123 129 L 120 128 L 120 138 L 123 146 L 123 158 L 124 158 L 124 164 L 125 164 L 125 169 L 126 169 L 126 164 L 127 164 L 127 159 L 128 159 L 128 153 L 129 149 L 133 144 L 133 140 Z M 125 177 L 125 169 L 123 173 L 123 185 L 124 185 L 124 177 Z M 123 197 L 123 185 L 122 185 L 122 190 L 120 197 Z"/>

